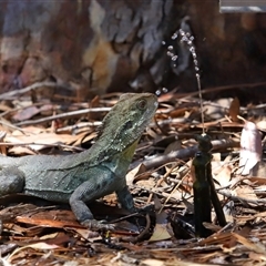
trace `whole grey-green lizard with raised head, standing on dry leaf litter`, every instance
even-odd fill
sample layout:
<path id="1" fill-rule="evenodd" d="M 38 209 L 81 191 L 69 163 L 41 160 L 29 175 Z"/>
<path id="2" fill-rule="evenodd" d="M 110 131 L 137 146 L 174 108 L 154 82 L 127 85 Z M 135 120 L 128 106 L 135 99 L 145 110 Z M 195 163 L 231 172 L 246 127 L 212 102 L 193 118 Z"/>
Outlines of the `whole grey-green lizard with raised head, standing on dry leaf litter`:
<path id="1" fill-rule="evenodd" d="M 110 228 L 93 218 L 85 203 L 115 192 L 122 206 L 134 211 L 125 174 L 156 108 L 154 94 L 126 93 L 104 117 L 90 150 L 59 156 L 1 156 L 0 196 L 22 192 L 69 203 L 81 224 L 93 229 Z"/>

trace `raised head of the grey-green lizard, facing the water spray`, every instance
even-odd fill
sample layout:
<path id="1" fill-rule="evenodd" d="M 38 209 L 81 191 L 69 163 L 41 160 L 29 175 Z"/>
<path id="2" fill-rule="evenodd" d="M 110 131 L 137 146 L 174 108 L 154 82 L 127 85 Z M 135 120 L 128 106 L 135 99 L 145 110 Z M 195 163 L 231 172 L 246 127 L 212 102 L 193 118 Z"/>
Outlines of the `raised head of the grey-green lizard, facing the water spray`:
<path id="1" fill-rule="evenodd" d="M 152 93 L 125 93 L 103 119 L 98 140 L 123 151 L 135 143 L 151 122 L 157 109 Z"/>

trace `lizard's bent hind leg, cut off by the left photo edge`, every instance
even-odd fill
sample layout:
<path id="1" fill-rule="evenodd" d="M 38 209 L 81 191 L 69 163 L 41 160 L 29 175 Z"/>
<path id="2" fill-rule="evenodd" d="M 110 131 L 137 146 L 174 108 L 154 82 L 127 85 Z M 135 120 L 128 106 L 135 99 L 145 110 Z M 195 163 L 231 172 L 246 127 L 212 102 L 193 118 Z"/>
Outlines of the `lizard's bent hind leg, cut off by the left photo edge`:
<path id="1" fill-rule="evenodd" d="M 17 166 L 0 170 L 0 196 L 23 192 L 24 173 Z"/>

